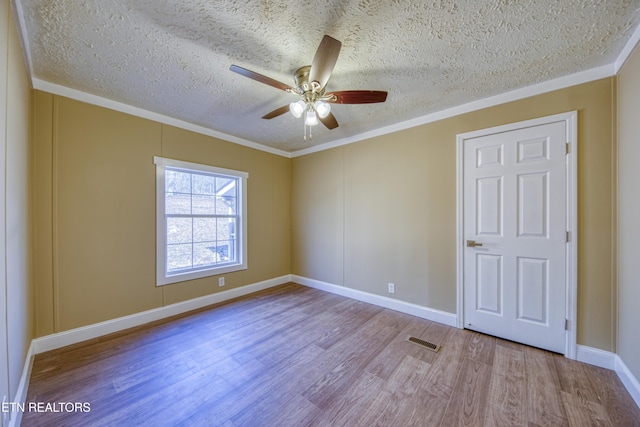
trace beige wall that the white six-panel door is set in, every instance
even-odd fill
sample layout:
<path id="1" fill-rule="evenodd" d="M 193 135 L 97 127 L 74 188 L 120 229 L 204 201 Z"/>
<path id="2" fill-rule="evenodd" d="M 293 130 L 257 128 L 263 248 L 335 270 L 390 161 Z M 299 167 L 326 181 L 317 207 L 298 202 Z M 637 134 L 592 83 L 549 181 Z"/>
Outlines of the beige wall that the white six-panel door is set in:
<path id="1" fill-rule="evenodd" d="M 456 311 L 456 134 L 578 111 L 578 343 L 615 349 L 615 78 L 293 159 L 292 273 Z"/>

